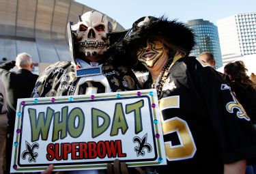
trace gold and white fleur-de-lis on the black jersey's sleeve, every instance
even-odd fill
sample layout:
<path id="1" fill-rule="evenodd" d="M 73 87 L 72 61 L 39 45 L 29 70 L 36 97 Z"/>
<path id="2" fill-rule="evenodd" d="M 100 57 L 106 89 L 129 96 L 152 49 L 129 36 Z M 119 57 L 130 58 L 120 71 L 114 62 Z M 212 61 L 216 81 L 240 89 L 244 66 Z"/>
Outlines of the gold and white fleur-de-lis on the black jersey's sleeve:
<path id="1" fill-rule="evenodd" d="M 248 115 L 246 114 L 243 106 L 240 104 L 240 102 L 238 102 L 238 100 L 235 98 L 235 96 L 233 96 L 233 93 L 231 92 L 231 96 L 233 97 L 233 102 L 229 102 L 226 105 L 227 111 L 229 113 L 234 113 L 233 109 L 237 108 L 238 111 L 236 111 L 236 116 L 240 119 L 246 119 L 246 120 L 250 120 L 250 118 L 248 117 Z"/>

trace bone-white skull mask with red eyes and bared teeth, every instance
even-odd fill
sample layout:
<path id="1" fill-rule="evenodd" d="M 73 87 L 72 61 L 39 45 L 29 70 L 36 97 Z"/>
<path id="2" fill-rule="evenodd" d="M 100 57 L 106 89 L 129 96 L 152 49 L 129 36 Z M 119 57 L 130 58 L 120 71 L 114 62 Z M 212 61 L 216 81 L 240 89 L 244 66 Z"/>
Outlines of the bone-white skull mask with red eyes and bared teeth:
<path id="1" fill-rule="evenodd" d="M 79 52 L 85 56 L 102 55 L 109 46 L 109 32 L 113 25 L 106 16 L 96 12 L 86 12 L 79 16 L 79 23 L 72 26 L 79 44 Z"/>

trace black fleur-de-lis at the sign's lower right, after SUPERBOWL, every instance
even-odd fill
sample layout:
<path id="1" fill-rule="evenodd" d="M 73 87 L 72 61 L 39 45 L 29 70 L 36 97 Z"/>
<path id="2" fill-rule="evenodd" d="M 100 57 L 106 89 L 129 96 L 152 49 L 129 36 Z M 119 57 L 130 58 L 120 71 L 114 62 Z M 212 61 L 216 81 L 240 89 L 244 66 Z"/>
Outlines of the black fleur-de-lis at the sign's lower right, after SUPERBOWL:
<path id="1" fill-rule="evenodd" d="M 152 151 L 152 147 L 149 143 L 147 143 L 147 134 L 145 134 L 142 139 L 139 138 L 139 136 L 135 136 L 133 138 L 133 143 L 138 143 L 139 146 L 134 147 L 134 151 L 137 152 L 137 156 L 144 156 L 145 155 L 145 151 L 144 149 L 147 149 L 147 152 L 151 152 Z"/>

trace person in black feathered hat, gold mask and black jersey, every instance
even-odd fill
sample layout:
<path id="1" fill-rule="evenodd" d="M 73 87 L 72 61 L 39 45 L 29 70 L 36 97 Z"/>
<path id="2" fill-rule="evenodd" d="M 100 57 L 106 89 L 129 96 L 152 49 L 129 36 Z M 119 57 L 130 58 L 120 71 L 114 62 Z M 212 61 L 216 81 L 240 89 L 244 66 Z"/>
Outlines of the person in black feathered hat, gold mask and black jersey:
<path id="1" fill-rule="evenodd" d="M 115 47 L 158 91 L 168 161 L 158 173 L 244 173 L 256 160 L 256 130 L 218 72 L 188 56 L 194 45 L 177 20 L 143 17 Z"/>

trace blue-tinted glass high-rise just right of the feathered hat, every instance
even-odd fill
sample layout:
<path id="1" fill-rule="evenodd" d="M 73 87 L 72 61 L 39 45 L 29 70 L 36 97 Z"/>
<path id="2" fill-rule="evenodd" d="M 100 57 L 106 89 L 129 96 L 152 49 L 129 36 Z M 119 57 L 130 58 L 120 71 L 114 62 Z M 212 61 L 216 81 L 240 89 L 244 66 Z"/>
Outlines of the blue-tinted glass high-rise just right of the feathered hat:
<path id="1" fill-rule="evenodd" d="M 200 53 L 208 51 L 214 55 L 216 60 L 215 68 L 223 66 L 217 27 L 210 23 L 209 20 L 203 19 L 188 20 L 186 24 L 190 29 L 193 29 L 196 35 L 196 45 L 190 55 L 197 57 Z"/>

